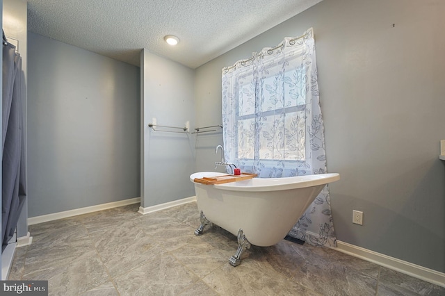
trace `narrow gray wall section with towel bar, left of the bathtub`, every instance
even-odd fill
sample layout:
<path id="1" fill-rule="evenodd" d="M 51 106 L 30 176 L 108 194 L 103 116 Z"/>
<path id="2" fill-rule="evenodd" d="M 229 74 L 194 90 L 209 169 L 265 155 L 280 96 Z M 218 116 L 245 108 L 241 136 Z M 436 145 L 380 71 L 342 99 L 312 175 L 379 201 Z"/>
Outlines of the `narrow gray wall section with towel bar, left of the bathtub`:
<path id="1" fill-rule="evenodd" d="M 195 172 L 194 136 L 153 131 L 148 124 L 194 126 L 195 71 L 141 52 L 141 206 L 147 208 L 195 195 L 188 179 Z M 163 129 L 155 127 L 155 129 Z M 167 129 L 183 131 L 181 129 Z"/>

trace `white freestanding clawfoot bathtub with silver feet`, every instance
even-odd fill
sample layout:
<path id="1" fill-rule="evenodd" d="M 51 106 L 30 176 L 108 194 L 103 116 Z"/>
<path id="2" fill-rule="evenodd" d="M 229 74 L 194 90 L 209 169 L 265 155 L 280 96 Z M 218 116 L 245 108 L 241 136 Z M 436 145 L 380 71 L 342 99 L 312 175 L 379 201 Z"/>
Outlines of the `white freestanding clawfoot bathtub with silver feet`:
<path id="1" fill-rule="evenodd" d="M 221 175 L 197 172 L 190 179 Z M 339 179 L 339 174 L 314 174 L 215 185 L 193 182 L 201 213 L 195 234 L 199 236 L 207 224 L 214 223 L 238 236 L 238 251 L 229 262 L 239 265 L 239 257 L 250 244 L 266 247 L 282 240 L 323 187 Z"/>

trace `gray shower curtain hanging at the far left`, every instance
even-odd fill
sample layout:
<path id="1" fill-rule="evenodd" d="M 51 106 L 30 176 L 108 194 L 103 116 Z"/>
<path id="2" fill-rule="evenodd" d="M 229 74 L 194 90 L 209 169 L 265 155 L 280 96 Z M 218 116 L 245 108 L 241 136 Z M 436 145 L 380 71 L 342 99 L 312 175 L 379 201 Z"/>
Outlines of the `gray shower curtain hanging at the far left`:
<path id="1" fill-rule="evenodd" d="M 26 199 L 22 58 L 3 35 L 1 250 L 13 237 Z"/>

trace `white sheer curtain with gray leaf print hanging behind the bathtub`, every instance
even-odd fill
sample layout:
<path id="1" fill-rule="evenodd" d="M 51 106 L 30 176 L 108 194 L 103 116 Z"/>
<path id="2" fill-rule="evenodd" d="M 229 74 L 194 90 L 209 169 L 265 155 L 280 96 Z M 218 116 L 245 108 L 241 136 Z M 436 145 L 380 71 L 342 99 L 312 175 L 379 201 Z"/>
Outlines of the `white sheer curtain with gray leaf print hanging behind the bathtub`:
<path id="1" fill-rule="evenodd" d="M 326 172 L 314 32 L 223 69 L 225 159 L 261 178 Z M 327 186 L 289 236 L 336 245 Z"/>

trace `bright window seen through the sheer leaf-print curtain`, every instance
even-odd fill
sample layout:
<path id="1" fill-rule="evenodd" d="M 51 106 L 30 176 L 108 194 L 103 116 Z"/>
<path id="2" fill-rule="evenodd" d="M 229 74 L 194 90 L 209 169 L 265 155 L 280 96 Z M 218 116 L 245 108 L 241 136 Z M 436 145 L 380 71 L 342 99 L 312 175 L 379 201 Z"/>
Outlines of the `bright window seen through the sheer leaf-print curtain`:
<path id="1" fill-rule="evenodd" d="M 286 65 L 270 65 L 261 79 L 248 67 L 236 79 L 237 159 L 305 161 L 305 69 Z"/>

